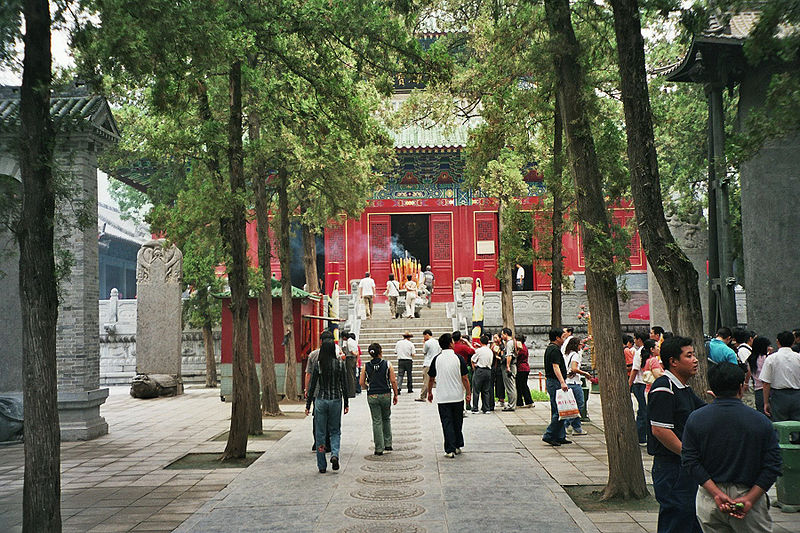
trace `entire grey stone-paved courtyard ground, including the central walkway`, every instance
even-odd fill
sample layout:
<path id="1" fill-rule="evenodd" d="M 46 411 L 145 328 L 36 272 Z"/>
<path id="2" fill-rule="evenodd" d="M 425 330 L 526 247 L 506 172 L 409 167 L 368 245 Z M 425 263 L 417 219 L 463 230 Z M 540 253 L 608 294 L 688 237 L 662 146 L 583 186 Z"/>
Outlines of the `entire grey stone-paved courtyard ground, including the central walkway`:
<path id="1" fill-rule="evenodd" d="M 221 452 L 224 441 L 210 439 L 227 430 L 230 404 L 218 389 L 134 400 L 127 387 L 112 388 L 103 406 L 109 435 L 62 444 L 64 531 L 654 531 L 655 512 L 584 513 L 562 488 L 606 481 L 598 399 L 589 401 L 590 434 L 572 445 L 541 442 L 549 406 L 540 402 L 470 415 L 464 454 L 446 459 L 435 406 L 403 395 L 393 411 L 396 451 L 375 461 L 362 395 L 343 418 L 342 469 L 321 475 L 301 405 L 264 419 L 264 429 L 291 432 L 251 440 L 249 450 L 265 453 L 248 469 L 165 470 L 187 452 Z M 22 465 L 21 445 L 0 447 L 1 532 L 21 531 Z M 772 515 L 776 533 L 800 531 L 800 513 Z"/>

